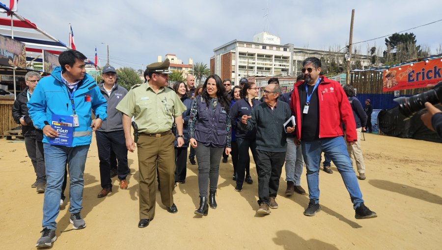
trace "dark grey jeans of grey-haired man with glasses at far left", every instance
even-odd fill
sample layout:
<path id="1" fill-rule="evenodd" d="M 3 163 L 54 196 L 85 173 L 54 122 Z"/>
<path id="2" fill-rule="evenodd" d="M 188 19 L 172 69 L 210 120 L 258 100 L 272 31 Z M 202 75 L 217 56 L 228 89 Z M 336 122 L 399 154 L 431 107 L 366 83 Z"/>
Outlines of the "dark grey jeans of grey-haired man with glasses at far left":
<path id="1" fill-rule="evenodd" d="M 36 184 L 46 184 L 45 157 L 43 143 L 35 139 L 35 137 L 25 137 L 25 147 L 28 156 L 34 166 L 35 175 L 37 175 Z"/>

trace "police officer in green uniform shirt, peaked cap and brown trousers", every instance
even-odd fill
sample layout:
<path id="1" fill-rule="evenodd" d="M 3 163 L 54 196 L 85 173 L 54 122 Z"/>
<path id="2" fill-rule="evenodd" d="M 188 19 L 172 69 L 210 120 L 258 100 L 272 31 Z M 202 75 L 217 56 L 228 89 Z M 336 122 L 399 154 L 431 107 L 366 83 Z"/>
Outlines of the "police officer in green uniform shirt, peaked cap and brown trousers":
<path id="1" fill-rule="evenodd" d="M 178 147 L 184 144 L 183 118 L 186 106 L 176 93 L 167 87 L 169 60 L 147 66 L 149 80 L 135 85 L 119 102 L 116 109 L 123 113 L 123 129 L 126 147 L 134 152 L 135 142 L 131 135 L 131 117 L 138 125 L 138 168 L 139 168 L 139 223 L 146 227 L 155 216 L 155 178 L 158 168 L 161 187 L 161 201 L 167 212 L 176 213 L 173 203 L 175 184 L 175 135 L 171 132 L 175 120 L 178 133 Z"/>

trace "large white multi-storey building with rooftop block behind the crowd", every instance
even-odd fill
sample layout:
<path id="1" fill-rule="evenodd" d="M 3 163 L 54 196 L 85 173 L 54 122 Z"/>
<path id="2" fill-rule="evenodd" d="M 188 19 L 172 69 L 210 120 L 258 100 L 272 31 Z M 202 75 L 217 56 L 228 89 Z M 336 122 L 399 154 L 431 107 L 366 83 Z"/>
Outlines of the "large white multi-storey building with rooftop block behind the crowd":
<path id="1" fill-rule="evenodd" d="M 253 36 L 253 42 L 233 40 L 213 50 L 210 71 L 233 83 L 248 76 L 292 76 L 301 74 L 302 61 L 310 56 L 329 63 L 344 63 L 345 52 L 296 48 L 293 44 L 280 45 L 280 38 L 268 32 Z M 352 61 L 359 60 L 361 67 L 370 65 L 370 57 L 353 54 Z M 324 72 L 325 74 L 327 72 Z"/>

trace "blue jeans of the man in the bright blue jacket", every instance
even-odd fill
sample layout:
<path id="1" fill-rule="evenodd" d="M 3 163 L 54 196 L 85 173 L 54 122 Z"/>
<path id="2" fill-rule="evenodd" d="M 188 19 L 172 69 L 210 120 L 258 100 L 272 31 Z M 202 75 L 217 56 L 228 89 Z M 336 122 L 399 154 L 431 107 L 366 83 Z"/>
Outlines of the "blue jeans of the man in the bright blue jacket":
<path id="1" fill-rule="evenodd" d="M 46 190 L 43 202 L 43 227 L 56 229 L 55 219 L 60 212 L 61 185 L 63 184 L 66 162 L 69 165 L 69 198 L 71 214 L 82 210 L 83 174 L 89 145 L 77 147 L 43 145 L 46 163 Z"/>

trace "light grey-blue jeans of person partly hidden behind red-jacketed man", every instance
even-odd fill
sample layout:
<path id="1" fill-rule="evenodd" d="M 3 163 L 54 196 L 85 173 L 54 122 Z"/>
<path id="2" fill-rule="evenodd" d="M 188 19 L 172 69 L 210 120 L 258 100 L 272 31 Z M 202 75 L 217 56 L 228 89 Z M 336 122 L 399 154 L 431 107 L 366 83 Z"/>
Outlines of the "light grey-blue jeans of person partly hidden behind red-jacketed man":
<path id="1" fill-rule="evenodd" d="M 292 181 L 295 186 L 301 186 L 304 157 L 301 146 L 297 146 L 293 137 L 287 137 L 287 153 L 285 154 L 285 181 Z"/>

